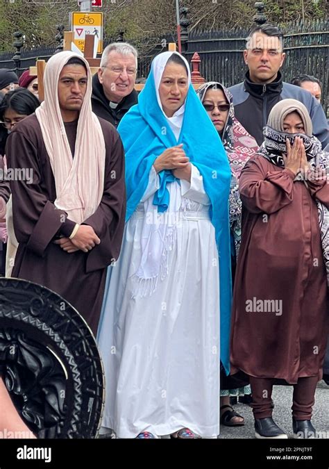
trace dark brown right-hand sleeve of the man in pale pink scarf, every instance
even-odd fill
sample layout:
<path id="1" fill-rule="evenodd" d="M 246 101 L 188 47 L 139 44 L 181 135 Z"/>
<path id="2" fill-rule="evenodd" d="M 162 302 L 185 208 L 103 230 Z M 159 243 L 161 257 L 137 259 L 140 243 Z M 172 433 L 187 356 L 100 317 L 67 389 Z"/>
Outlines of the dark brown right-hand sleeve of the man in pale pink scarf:
<path id="1" fill-rule="evenodd" d="M 112 132 L 112 131 L 111 131 Z M 105 268 L 119 257 L 126 215 L 124 147 L 115 131 L 115 138 L 106 139 L 104 192 L 97 208 L 83 224 L 90 225 L 101 243 L 87 256 L 86 271 Z"/>

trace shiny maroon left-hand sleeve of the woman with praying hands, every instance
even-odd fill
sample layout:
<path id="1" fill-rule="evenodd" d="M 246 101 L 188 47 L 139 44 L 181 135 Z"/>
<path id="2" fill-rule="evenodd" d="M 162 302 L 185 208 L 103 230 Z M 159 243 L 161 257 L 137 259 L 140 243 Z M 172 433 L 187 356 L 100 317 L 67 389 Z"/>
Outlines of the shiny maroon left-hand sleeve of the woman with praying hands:
<path id="1" fill-rule="evenodd" d="M 251 213 L 275 213 L 290 204 L 294 193 L 294 173 L 268 171 L 259 156 L 251 158 L 241 172 L 239 192 Z"/>

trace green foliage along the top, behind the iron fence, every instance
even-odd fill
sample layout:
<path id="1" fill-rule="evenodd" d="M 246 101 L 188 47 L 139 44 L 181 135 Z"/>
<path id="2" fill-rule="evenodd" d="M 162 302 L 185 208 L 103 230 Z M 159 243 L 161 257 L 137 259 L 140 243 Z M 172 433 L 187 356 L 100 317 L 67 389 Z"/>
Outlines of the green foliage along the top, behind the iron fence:
<path id="1" fill-rule="evenodd" d="M 176 31 L 175 0 L 103 0 L 104 36 L 144 43 L 145 48 Z M 285 26 L 300 19 L 326 19 L 326 0 L 264 0 L 269 22 Z M 249 28 L 255 15 L 254 0 L 180 0 L 189 8 L 190 29 Z M 36 5 L 27 0 L 0 0 L 0 50 L 12 51 L 15 31 L 25 35 L 26 47 L 55 44 L 56 24 L 69 30 L 69 13 L 78 10 L 76 0 Z M 95 8 L 95 11 L 100 11 Z M 148 38 L 152 38 L 148 41 Z M 155 38 L 155 39 L 153 39 Z M 144 42 L 143 42 L 144 41 Z M 149 44 L 148 44 L 149 42 Z"/>

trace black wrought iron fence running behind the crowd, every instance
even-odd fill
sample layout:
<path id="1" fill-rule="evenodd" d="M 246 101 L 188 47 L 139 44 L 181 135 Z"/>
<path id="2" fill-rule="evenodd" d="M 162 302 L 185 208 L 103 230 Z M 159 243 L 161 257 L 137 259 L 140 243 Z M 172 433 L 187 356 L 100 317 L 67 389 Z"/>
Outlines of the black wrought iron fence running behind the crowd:
<path id="1" fill-rule="evenodd" d="M 322 104 L 327 115 L 329 113 L 329 22 L 306 21 L 295 22 L 283 28 L 285 33 L 286 59 L 282 67 L 285 81 L 290 81 L 298 74 L 314 75 L 322 83 Z M 243 54 L 245 38 L 248 31 L 235 29 L 231 31 L 192 31 L 184 45 L 184 54 L 190 60 L 194 52 L 201 57 L 201 75 L 207 80 L 220 81 L 226 86 L 239 83 L 244 79 L 246 67 Z M 114 38 L 106 38 L 104 45 Z M 147 38 L 147 42 L 155 44 L 148 53 L 140 56 L 138 79 L 141 81 L 149 74 L 151 60 L 160 51 L 166 49 L 166 41 L 175 41 L 173 35 L 162 38 Z M 141 43 L 141 42 L 140 42 Z M 134 44 L 138 47 L 139 44 Z M 20 63 L 15 68 L 12 52 L 0 54 L 0 67 L 16 69 L 18 74 L 32 65 L 37 58 L 47 60 L 56 51 L 56 47 L 22 49 Z"/>

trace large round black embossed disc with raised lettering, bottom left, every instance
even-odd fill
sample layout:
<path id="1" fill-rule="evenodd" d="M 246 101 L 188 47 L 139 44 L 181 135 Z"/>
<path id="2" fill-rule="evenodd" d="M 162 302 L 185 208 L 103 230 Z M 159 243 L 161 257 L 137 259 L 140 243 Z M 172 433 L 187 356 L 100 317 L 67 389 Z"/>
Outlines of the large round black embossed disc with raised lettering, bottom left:
<path id="1" fill-rule="evenodd" d="M 60 295 L 0 279 L 0 364 L 17 411 L 39 438 L 97 436 L 101 358 L 87 323 Z"/>

